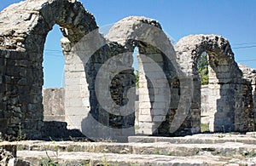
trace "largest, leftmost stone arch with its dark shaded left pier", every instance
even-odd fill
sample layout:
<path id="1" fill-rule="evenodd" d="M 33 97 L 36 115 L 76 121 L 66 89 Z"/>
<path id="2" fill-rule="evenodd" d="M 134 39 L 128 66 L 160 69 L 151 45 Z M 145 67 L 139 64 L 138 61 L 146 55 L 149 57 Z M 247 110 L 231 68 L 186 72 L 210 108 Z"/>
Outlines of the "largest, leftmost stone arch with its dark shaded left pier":
<path id="1" fill-rule="evenodd" d="M 97 28 L 82 3 L 69 0 L 27 0 L 9 6 L 0 14 L 1 84 L 0 117 L 3 134 L 40 137 L 43 125 L 42 61 L 44 42 L 55 24 L 61 26 L 70 46 Z M 68 43 L 68 44 L 67 44 Z"/>

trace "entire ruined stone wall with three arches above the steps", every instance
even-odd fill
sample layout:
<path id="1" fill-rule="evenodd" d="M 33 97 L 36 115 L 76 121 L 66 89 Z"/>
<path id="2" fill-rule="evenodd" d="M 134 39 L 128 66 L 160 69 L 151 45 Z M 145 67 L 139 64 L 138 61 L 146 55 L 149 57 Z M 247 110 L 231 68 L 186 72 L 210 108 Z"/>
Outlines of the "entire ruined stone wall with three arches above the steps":
<path id="1" fill-rule="evenodd" d="M 79 129 L 93 138 L 192 135 L 201 132 L 201 113 L 211 132 L 255 130 L 255 71 L 237 66 L 224 37 L 188 36 L 172 45 L 158 21 L 137 16 L 120 20 L 103 37 L 82 3 L 68 0 L 26 0 L 4 9 L 0 20 L 3 135 L 18 136 L 21 130 L 28 139 L 50 136 L 43 131 L 55 132 L 58 124 L 47 127 L 44 121 L 66 122 L 60 130 Z M 48 105 L 43 106 L 44 43 L 55 24 L 63 34 L 65 89 L 44 90 Z M 136 47 L 135 112 L 136 77 L 131 65 Z M 207 97 L 201 98 L 197 61 L 204 52 L 209 83 L 202 95 Z M 125 106 L 130 106 L 129 113 L 122 112 Z"/>

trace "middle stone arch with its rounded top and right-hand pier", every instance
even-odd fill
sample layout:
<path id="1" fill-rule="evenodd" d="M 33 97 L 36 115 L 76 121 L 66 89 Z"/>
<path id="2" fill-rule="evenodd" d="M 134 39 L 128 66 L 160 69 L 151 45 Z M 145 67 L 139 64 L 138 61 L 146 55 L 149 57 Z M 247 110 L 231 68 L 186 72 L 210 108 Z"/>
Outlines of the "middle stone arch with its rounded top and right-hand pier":
<path id="1" fill-rule="evenodd" d="M 188 135 L 200 132 L 199 119 L 194 116 L 200 117 L 199 107 L 194 105 L 197 109 L 190 109 L 193 85 L 184 83 L 190 77 L 179 70 L 172 43 L 161 30 L 160 23 L 145 17 L 127 17 L 114 24 L 106 38 L 131 52 L 135 47 L 139 51 L 137 134 Z M 156 70 L 155 65 L 160 66 L 161 71 Z M 181 100 L 187 104 L 179 105 Z"/>

